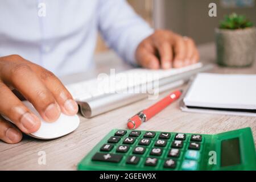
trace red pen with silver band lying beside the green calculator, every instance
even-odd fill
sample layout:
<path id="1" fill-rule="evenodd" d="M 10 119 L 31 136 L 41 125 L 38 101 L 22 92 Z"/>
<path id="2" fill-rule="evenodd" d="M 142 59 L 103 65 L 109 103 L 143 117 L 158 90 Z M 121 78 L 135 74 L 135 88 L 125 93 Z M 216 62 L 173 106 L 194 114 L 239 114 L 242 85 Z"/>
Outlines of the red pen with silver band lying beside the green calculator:
<path id="1" fill-rule="evenodd" d="M 150 118 L 154 117 L 154 115 L 158 114 L 172 102 L 179 99 L 181 94 L 182 90 L 177 90 L 169 94 L 167 97 L 164 97 L 159 102 L 156 102 L 156 104 L 134 115 L 132 118 L 128 119 L 127 127 L 131 130 L 137 129 L 141 125 L 141 123 L 148 121 Z"/>

